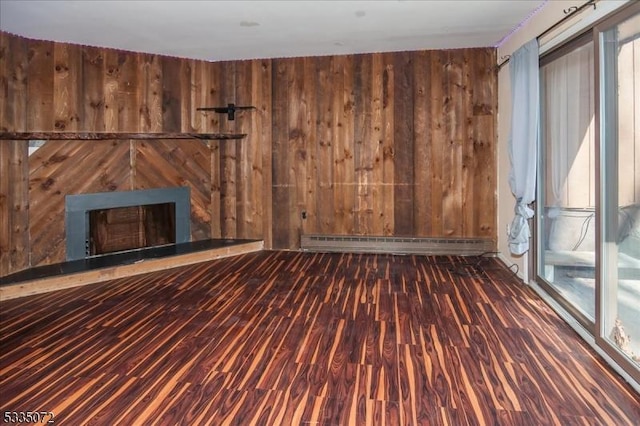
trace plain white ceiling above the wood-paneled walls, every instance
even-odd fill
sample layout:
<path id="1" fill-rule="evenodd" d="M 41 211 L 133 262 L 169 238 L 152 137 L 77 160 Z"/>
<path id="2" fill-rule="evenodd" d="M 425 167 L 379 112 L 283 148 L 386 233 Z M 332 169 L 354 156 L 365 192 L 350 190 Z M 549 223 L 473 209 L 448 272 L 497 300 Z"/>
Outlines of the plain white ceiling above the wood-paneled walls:
<path id="1" fill-rule="evenodd" d="M 221 61 L 497 46 L 545 2 L 0 0 L 0 29 Z"/>

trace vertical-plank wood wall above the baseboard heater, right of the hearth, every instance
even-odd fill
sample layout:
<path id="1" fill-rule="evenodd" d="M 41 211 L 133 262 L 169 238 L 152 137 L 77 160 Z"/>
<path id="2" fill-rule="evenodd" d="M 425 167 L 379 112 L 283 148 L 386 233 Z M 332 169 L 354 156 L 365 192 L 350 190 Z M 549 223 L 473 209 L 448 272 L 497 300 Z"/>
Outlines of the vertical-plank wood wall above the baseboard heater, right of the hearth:
<path id="1" fill-rule="evenodd" d="M 489 49 L 274 60 L 275 246 L 494 238 L 493 64 Z"/>

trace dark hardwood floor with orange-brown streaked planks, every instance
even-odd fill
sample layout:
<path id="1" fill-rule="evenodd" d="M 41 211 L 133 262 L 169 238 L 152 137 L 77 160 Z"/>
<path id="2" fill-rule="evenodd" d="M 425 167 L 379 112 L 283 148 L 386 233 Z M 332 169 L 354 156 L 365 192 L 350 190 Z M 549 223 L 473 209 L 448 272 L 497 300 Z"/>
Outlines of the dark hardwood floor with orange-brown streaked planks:
<path id="1" fill-rule="evenodd" d="M 492 258 L 264 251 L 0 315 L 0 408 L 56 424 L 640 419 L 639 395 Z"/>

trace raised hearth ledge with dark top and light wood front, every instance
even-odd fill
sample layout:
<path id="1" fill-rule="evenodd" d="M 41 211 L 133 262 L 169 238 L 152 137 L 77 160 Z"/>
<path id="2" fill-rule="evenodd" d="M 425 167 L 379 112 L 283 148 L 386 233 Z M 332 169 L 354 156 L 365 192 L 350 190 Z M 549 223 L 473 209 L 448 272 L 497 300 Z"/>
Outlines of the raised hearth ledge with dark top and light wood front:
<path id="1" fill-rule="evenodd" d="M 207 247 L 207 242 L 212 241 L 213 244 Z M 31 296 L 34 294 L 47 293 L 50 291 L 62 290 L 65 288 L 79 287 L 87 284 L 109 281 L 117 278 L 124 278 L 133 275 L 144 274 L 147 272 L 163 271 L 166 269 L 176 268 L 178 266 L 192 265 L 194 263 L 207 262 L 224 257 L 237 256 L 245 253 L 252 253 L 264 250 L 263 240 L 219 240 L 224 242 L 222 245 L 215 244 L 216 240 L 196 241 L 193 243 L 173 244 L 159 248 L 144 249 L 146 251 L 156 250 L 162 253 L 171 252 L 168 256 L 160 255 L 158 257 L 144 257 L 142 255 L 135 258 L 137 253 L 143 253 L 144 250 L 129 252 L 128 263 L 91 268 L 70 273 L 62 273 L 45 277 L 38 277 L 29 280 L 9 281 L 11 277 L 28 274 L 29 271 L 12 274 L 8 277 L 0 279 L 0 301 L 15 299 L 18 297 Z M 195 247 L 190 250 L 189 247 Z M 100 259 L 107 259 L 109 256 L 123 256 L 123 254 L 101 256 Z M 95 262 L 98 258 L 90 258 L 82 261 L 74 261 L 87 264 Z M 106 262 L 104 262 L 106 263 Z M 54 265 L 50 265 L 54 267 Z"/>

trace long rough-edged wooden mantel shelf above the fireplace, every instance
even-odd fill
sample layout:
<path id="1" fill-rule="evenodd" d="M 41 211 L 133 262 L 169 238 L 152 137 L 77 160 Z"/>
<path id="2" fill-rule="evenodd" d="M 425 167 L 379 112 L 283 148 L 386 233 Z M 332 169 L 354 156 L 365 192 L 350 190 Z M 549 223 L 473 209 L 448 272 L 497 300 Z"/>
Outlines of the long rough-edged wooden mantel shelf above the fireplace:
<path id="1" fill-rule="evenodd" d="M 243 139 L 246 133 L 0 132 L 0 140 Z"/>

